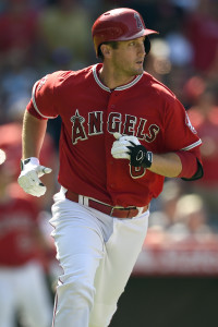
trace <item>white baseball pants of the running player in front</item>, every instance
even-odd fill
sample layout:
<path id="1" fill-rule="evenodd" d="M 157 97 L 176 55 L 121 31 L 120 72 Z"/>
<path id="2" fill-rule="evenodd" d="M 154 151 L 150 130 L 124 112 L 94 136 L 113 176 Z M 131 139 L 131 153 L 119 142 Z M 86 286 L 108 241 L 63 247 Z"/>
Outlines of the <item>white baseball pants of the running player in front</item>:
<path id="1" fill-rule="evenodd" d="M 149 211 L 118 219 L 55 195 L 52 237 L 60 276 L 53 327 L 107 327 L 142 250 Z"/>

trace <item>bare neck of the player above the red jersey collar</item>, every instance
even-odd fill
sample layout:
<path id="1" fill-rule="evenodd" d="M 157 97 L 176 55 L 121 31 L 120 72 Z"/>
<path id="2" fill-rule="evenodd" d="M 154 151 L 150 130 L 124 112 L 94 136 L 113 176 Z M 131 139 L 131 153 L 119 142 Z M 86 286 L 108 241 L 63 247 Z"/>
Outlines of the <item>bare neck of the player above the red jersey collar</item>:
<path id="1" fill-rule="evenodd" d="M 135 78 L 135 75 L 125 76 L 123 74 L 118 74 L 117 72 L 108 69 L 106 65 L 102 65 L 98 74 L 100 82 L 110 89 L 114 89 L 116 87 L 129 84 Z"/>

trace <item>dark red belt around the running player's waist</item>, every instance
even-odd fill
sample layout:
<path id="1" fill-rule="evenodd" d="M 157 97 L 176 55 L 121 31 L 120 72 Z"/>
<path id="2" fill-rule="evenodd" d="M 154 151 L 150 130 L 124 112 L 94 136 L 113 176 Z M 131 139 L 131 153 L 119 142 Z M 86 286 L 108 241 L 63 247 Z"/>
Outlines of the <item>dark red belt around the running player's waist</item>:
<path id="1" fill-rule="evenodd" d="M 71 192 L 69 190 L 65 192 L 65 198 L 72 201 L 72 202 L 88 206 L 88 207 L 96 209 L 98 211 L 101 211 L 102 214 L 106 214 L 108 216 L 121 218 L 121 219 L 136 217 L 136 216 L 142 215 L 143 213 L 147 211 L 149 208 L 149 205 L 146 205 L 144 207 L 135 207 L 135 206 L 130 206 L 130 207 L 114 206 L 113 207 L 106 203 L 97 201 L 95 198 L 80 195 L 80 194 Z"/>

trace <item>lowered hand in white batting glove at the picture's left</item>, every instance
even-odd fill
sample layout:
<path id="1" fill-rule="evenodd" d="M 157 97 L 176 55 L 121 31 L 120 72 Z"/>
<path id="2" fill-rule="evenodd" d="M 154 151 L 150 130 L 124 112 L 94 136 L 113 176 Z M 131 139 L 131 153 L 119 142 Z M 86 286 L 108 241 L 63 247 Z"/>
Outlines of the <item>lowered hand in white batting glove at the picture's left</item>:
<path id="1" fill-rule="evenodd" d="M 17 180 L 20 186 L 31 195 L 38 197 L 44 195 L 47 189 L 39 180 L 39 177 L 50 173 L 52 169 L 40 166 L 39 160 L 35 157 L 21 160 L 21 169 Z"/>

